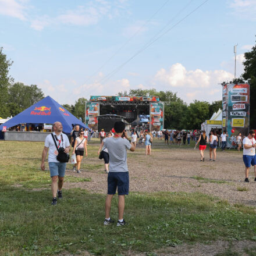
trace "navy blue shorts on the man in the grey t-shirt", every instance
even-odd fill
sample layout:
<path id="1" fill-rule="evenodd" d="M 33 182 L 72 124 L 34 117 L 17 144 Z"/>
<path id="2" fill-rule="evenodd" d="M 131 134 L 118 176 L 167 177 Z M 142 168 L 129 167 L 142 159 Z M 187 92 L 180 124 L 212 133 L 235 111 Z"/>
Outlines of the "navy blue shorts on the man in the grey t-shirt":
<path id="1" fill-rule="evenodd" d="M 108 195 L 114 195 L 116 188 L 119 195 L 129 194 L 129 172 L 108 173 Z"/>

